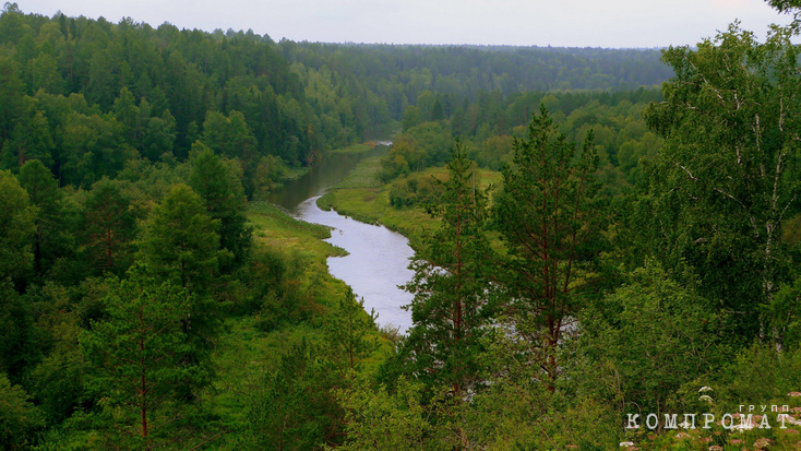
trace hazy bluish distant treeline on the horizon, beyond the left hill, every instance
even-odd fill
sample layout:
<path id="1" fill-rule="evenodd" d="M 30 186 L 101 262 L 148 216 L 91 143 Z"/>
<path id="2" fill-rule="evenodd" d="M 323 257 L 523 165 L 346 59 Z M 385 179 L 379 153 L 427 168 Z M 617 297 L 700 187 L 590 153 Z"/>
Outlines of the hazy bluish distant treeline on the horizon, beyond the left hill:
<path id="1" fill-rule="evenodd" d="M 358 80 L 399 119 L 425 91 L 459 100 L 482 92 L 658 86 L 673 75 L 660 50 L 509 46 L 342 45 L 282 40 L 284 56 Z M 323 69 L 325 68 L 325 69 Z"/>

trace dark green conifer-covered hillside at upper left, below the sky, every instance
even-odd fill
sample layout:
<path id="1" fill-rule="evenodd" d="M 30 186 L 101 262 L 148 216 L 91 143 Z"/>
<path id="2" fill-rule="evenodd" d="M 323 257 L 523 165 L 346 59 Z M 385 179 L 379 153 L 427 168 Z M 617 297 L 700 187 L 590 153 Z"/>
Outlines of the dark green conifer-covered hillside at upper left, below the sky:
<path id="1" fill-rule="evenodd" d="M 77 186 L 139 157 L 184 159 L 202 140 L 240 159 L 248 188 L 388 119 L 380 99 L 342 91 L 313 109 L 266 36 L 47 17 L 13 3 L 0 16 L 0 78 L 3 168 L 36 158 Z"/>

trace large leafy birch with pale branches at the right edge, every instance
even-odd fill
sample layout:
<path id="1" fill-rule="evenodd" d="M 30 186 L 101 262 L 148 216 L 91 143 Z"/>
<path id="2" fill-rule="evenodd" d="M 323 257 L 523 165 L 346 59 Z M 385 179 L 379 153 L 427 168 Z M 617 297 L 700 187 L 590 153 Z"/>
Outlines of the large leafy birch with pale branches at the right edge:
<path id="1" fill-rule="evenodd" d="M 666 268 L 692 272 L 721 310 L 740 312 L 727 328 L 743 344 L 784 340 L 763 311 L 793 266 L 779 239 L 801 188 L 801 50 L 790 37 L 774 28 L 760 44 L 733 24 L 697 49 L 666 50 L 677 76 L 645 116 L 665 138 L 643 201 L 658 218 L 646 228 L 649 246 L 663 249 Z"/>

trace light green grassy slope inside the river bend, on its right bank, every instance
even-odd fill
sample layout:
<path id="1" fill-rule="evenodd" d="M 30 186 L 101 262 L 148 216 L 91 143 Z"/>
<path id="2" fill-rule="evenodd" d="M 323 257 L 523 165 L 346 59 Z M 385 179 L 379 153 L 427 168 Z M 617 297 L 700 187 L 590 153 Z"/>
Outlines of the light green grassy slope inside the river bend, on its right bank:
<path id="1" fill-rule="evenodd" d="M 354 171 L 342 182 L 333 187 L 318 200 L 321 209 L 334 209 L 338 213 L 368 224 L 382 224 L 409 238 L 416 248 L 427 230 L 433 230 L 438 222 L 432 219 L 420 207 L 395 209 L 390 205 L 390 183 L 379 179 L 381 162 L 379 157 L 367 158 L 359 163 Z M 498 185 L 501 174 L 487 169 L 478 169 L 479 185 L 487 188 Z M 429 168 L 422 171 L 425 177 L 446 177 L 444 167 Z"/>

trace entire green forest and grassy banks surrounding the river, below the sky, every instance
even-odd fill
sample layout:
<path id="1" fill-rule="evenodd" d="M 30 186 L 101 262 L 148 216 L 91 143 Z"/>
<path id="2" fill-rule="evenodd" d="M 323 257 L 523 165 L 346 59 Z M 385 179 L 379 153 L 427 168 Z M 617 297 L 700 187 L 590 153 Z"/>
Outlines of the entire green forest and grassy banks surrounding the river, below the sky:
<path id="1" fill-rule="evenodd" d="M 661 50 L 5 3 L 0 449 L 798 449 L 801 5 L 768 3 Z M 409 238 L 406 334 L 266 200 L 386 139 L 318 204 Z"/>

